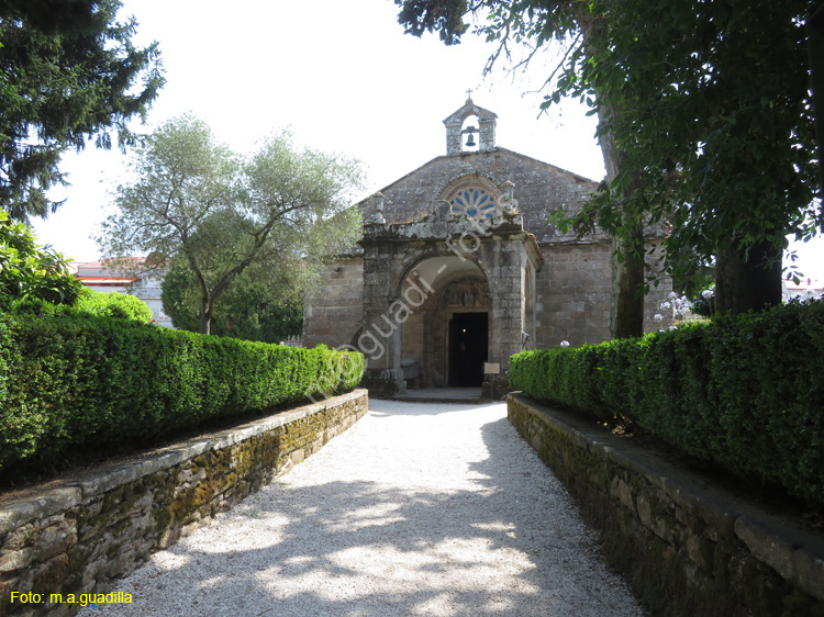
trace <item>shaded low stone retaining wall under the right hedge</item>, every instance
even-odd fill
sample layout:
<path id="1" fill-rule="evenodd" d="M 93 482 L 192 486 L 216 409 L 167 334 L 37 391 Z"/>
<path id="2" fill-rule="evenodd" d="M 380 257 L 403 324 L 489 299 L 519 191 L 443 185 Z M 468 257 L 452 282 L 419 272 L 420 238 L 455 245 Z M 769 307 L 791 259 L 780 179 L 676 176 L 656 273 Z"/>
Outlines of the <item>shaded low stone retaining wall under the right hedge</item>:
<path id="1" fill-rule="evenodd" d="M 580 416 L 522 394 L 508 406 L 653 614 L 824 616 L 824 534 Z"/>

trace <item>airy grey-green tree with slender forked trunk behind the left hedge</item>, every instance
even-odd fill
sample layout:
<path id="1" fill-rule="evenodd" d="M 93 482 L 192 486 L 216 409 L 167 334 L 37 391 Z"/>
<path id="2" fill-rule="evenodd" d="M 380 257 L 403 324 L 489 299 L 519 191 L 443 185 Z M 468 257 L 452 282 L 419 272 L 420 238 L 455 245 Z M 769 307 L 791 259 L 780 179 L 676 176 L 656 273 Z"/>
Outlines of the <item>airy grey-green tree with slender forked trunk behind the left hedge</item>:
<path id="1" fill-rule="evenodd" d="M 138 147 L 135 172 L 135 182 L 118 188 L 120 213 L 103 224 L 98 243 L 111 256 L 153 253 L 157 268 L 185 260 L 198 282 L 204 334 L 215 301 L 248 268 L 311 279 L 360 231 L 359 212 L 348 206 L 358 166 L 298 152 L 286 134 L 243 158 L 202 121 L 182 116 Z"/>

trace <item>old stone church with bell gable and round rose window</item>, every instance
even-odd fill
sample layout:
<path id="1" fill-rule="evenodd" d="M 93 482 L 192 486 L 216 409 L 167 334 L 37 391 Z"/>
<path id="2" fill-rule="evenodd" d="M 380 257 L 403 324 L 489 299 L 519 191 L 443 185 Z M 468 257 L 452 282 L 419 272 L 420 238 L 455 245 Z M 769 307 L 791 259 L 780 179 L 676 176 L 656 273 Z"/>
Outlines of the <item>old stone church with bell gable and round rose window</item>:
<path id="1" fill-rule="evenodd" d="M 327 263 L 307 301 L 303 344 L 363 351 L 377 395 L 497 395 L 513 354 L 610 338 L 610 238 L 546 225 L 597 182 L 497 146 L 497 115 L 471 99 L 444 124 L 446 155 L 359 204 L 359 247 Z M 647 329 L 670 289 L 647 298 Z"/>

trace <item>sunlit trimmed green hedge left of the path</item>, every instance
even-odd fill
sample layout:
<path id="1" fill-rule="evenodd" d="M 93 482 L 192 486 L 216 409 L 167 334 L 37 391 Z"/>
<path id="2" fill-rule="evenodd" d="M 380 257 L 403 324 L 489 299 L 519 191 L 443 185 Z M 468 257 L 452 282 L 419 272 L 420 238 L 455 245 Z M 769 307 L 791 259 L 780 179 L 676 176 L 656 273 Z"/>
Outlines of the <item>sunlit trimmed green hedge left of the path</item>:
<path id="1" fill-rule="evenodd" d="M 0 470 L 151 444 L 224 416 L 354 388 L 360 354 L 57 312 L 0 314 Z"/>

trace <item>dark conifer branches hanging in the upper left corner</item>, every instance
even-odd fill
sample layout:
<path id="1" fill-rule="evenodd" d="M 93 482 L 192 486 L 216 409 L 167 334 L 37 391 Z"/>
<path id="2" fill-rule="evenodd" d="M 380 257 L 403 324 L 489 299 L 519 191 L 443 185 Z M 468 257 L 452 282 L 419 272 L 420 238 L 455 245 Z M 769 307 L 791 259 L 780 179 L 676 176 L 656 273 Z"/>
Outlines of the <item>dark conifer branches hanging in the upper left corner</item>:
<path id="1" fill-rule="evenodd" d="M 94 136 L 109 148 L 135 136 L 164 83 L 157 44 L 136 48 L 120 0 L 0 0 L 0 207 L 12 218 L 46 216 L 66 184 L 62 154 Z"/>

